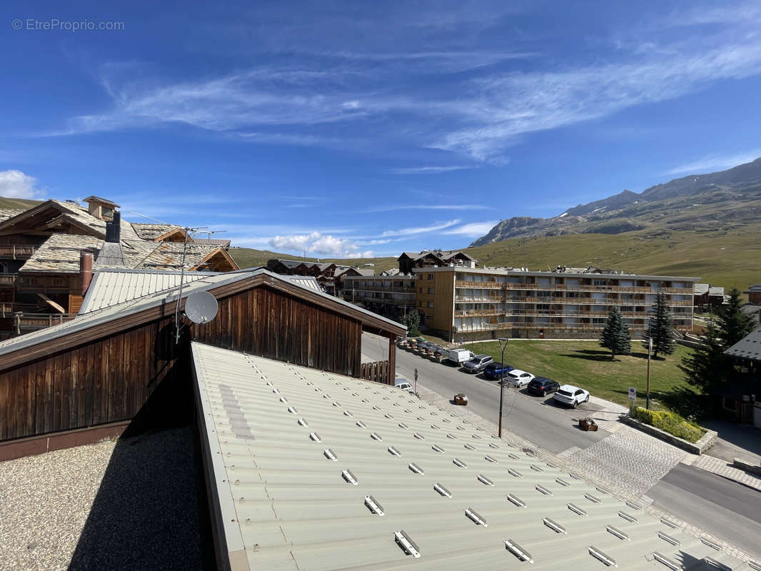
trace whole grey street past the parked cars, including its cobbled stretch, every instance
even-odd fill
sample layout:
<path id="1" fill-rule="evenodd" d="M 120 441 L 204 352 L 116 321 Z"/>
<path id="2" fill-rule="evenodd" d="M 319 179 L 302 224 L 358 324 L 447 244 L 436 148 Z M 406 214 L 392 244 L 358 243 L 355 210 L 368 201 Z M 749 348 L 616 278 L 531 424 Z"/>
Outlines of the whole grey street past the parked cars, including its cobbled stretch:
<path id="1" fill-rule="evenodd" d="M 387 346 L 366 333 L 362 354 L 367 360 L 384 360 L 388 354 Z M 431 362 L 404 349 L 396 350 L 397 377 L 412 381 L 416 368 L 419 371 L 418 383 L 423 387 L 450 399 L 454 394 L 463 392 L 468 396 L 467 408 L 471 412 L 492 423 L 498 422 L 497 381 L 488 381 L 480 374 L 468 375 L 455 366 Z M 562 384 L 562 379 L 556 381 Z M 613 434 L 604 429 L 597 432 L 579 430 L 575 419 L 579 416 L 594 417 L 595 413 L 602 412 L 599 406 L 585 403 L 576 410 L 568 409 L 553 404 L 551 397 L 533 397 L 525 392 L 525 388 L 521 391 L 505 388 L 503 429 L 552 454 L 579 449 L 578 457 L 582 465 L 586 463 L 591 467 L 597 461 L 607 463 L 609 474 L 619 471 L 621 481 L 639 494 L 646 493 L 654 500 L 655 507 L 761 558 L 761 493 L 696 467 L 680 464 L 681 451 L 641 432 L 635 431 L 635 439 L 642 442 L 628 447 L 628 442 L 622 443 L 625 438 L 620 431 Z M 616 452 L 619 454 L 616 455 Z M 667 455 L 673 457 L 666 458 Z M 657 465 L 659 463 L 661 465 Z M 614 464 L 613 467 L 611 464 Z M 648 467 L 632 473 L 632 466 L 642 464 L 653 468 L 651 477 L 638 475 L 646 473 Z M 628 482 L 627 472 L 631 477 Z M 633 486 L 635 480 L 641 480 L 638 482 L 640 485 Z"/>

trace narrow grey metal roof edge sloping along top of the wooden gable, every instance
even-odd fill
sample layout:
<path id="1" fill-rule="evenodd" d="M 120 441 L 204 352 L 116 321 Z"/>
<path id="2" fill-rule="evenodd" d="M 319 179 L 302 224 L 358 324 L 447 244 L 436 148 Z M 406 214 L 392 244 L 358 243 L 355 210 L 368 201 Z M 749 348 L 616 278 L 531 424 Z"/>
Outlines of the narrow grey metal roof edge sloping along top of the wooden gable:
<path id="1" fill-rule="evenodd" d="M 186 298 L 193 292 L 208 291 L 209 289 L 218 288 L 221 285 L 238 282 L 241 279 L 250 279 L 260 274 L 269 276 L 272 279 L 291 282 L 291 280 L 288 279 L 288 276 L 279 276 L 276 273 L 272 273 L 269 270 L 264 270 L 261 268 L 253 271 L 237 271 L 218 274 L 204 272 L 202 278 L 196 279 L 195 282 L 192 282 L 183 288 L 183 298 Z M 307 288 L 304 287 L 304 285 L 298 284 L 298 282 L 291 283 L 293 283 L 293 285 L 296 287 L 304 289 L 312 294 L 320 295 L 323 298 L 330 299 L 337 305 L 343 305 L 347 308 L 352 308 L 354 311 L 358 311 L 361 314 L 366 314 L 374 321 L 386 322 L 387 324 L 390 324 L 394 330 L 404 329 L 404 326 L 402 324 L 396 323 L 396 321 L 392 321 L 386 317 L 381 317 L 380 315 L 374 314 L 371 311 L 367 311 L 366 309 L 359 308 L 358 306 L 353 305 L 348 301 L 343 301 L 341 298 L 333 297 L 333 295 L 327 295 L 321 291 L 314 291 L 311 288 Z M 151 295 L 145 295 L 142 298 L 135 298 L 133 300 L 124 301 L 123 303 L 116 305 L 110 305 L 97 311 L 91 311 L 90 313 L 75 317 L 75 319 L 72 319 L 72 321 L 66 321 L 65 323 L 54 325 L 53 327 L 47 327 L 46 329 L 33 331 L 19 337 L 13 337 L 5 341 L 0 341 L 0 356 L 5 355 L 6 353 L 18 351 L 19 349 L 25 349 L 30 346 L 39 345 L 40 343 L 46 343 L 48 341 L 57 339 L 59 337 L 64 337 L 65 335 L 75 333 L 77 331 L 89 329 L 90 327 L 94 327 L 96 325 L 109 323 L 110 321 L 114 321 L 120 317 L 136 314 L 140 311 L 145 311 L 146 309 L 158 307 L 164 303 L 174 302 L 177 300 L 177 292 L 177 288 L 164 289 Z"/>

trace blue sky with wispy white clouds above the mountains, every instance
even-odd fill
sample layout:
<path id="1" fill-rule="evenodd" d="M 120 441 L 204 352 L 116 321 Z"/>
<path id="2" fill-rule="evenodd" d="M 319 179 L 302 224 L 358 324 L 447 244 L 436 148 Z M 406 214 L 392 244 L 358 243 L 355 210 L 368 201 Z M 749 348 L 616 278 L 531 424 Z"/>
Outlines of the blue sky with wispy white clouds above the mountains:
<path id="1" fill-rule="evenodd" d="M 464 247 L 500 219 L 761 156 L 758 2 L 0 14 L 0 195 L 97 194 L 239 246 Z M 101 24 L 117 29 L 73 29 Z"/>

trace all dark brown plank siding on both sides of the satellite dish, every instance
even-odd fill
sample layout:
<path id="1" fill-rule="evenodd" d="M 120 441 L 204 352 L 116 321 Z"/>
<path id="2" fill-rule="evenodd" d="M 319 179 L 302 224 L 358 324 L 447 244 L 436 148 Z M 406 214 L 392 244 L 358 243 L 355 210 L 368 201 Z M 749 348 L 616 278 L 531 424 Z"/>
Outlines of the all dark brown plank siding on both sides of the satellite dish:
<path id="1" fill-rule="evenodd" d="M 179 345 L 169 304 L 3 356 L 0 442 L 132 419 L 160 386 L 189 391 L 191 338 L 361 376 L 363 324 L 354 315 L 261 282 L 218 303 L 215 320 L 186 324 Z"/>

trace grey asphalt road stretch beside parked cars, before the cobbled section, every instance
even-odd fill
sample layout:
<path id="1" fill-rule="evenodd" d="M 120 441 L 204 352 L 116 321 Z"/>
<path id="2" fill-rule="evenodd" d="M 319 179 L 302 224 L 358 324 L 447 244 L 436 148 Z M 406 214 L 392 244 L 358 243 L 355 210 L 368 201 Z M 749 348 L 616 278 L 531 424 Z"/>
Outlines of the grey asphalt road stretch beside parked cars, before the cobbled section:
<path id="1" fill-rule="evenodd" d="M 362 352 L 373 360 L 387 359 L 386 346 L 377 342 L 377 337 L 366 336 Z M 422 359 L 415 353 L 404 349 L 396 350 L 396 375 L 410 380 L 414 378 L 415 368 L 419 369 L 419 383 L 438 394 L 468 395 L 468 408 L 485 419 L 498 422 L 499 386 L 496 381 L 487 381 L 482 375 L 468 375 L 454 366 L 441 365 Z M 505 388 L 503 402 L 502 426 L 522 436 L 524 439 L 545 448 L 553 454 L 559 454 L 576 446 L 587 448 L 605 438 L 608 432 L 583 432 L 576 426 L 574 419 L 579 416 L 594 416 L 595 407 L 589 403 L 577 410 L 558 407 L 552 404 L 552 398 L 530 397 L 514 394 L 514 389 Z"/>

